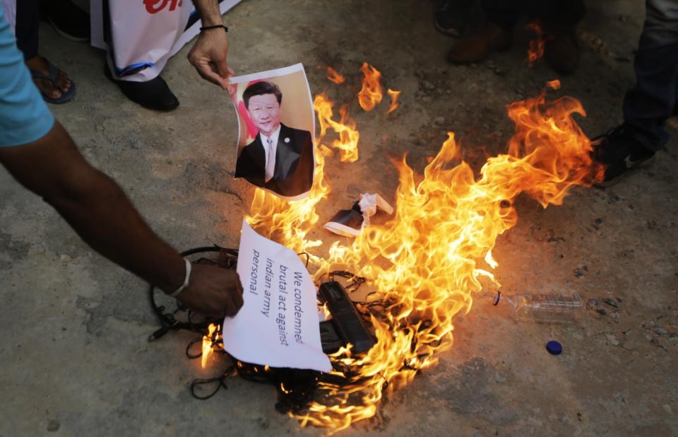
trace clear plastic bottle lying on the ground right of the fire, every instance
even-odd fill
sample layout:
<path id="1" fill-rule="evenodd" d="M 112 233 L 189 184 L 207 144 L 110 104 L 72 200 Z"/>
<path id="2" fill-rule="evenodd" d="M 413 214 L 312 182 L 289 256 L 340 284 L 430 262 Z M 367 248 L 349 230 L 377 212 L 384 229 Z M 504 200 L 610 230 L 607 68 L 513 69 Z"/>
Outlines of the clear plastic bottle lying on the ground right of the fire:
<path id="1" fill-rule="evenodd" d="M 572 293 L 514 294 L 501 296 L 511 305 L 518 320 L 535 322 L 573 322 L 584 305 L 576 291 Z"/>

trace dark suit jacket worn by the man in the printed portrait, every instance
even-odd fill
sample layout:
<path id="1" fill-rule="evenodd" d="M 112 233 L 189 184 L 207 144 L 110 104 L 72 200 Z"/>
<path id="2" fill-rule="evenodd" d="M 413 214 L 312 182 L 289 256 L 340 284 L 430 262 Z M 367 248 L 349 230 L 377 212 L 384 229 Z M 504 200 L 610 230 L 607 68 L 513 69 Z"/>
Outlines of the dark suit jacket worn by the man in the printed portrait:
<path id="1" fill-rule="evenodd" d="M 244 177 L 251 184 L 281 196 L 295 197 L 311 190 L 314 165 L 311 132 L 280 123 L 273 177 L 266 182 L 266 151 L 259 134 L 242 148 L 235 164 L 235 177 Z"/>

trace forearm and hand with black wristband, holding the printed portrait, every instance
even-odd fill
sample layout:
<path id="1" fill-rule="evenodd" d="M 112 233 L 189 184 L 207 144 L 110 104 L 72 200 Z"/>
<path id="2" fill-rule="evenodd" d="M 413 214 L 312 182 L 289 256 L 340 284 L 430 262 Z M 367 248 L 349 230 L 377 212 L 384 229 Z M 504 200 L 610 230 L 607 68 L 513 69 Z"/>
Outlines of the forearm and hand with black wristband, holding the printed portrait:
<path id="1" fill-rule="evenodd" d="M 223 24 L 217 0 L 193 0 L 202 18 L 202 25 Z M 216 85 L 227 89 L 228 78 L 234 72 L 227 64 L 228 35 L 223 28 L 203 30 L 196 44 L 189 52 L 189 62 L 196 67 L 198 74 Z"/>

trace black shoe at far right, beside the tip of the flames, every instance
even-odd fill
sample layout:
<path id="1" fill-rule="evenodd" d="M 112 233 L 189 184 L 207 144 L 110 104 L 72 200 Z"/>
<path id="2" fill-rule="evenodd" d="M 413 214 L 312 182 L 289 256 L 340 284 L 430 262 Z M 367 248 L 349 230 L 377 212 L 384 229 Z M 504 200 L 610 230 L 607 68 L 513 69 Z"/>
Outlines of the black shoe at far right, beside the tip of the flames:
<path id="1" fill-rule="evenodd" d="M 644 147 L 634 138 L 633 128 L 626 124 L 595 137 L 591 140 L 591 146 L 593 159 L 607 165 L 605 179 L 598 184 L 602 187 L 619 182 L 619 176 L 629 168 L 650 164 L 650 158 L 655 156 L 655 151 Z"/>

